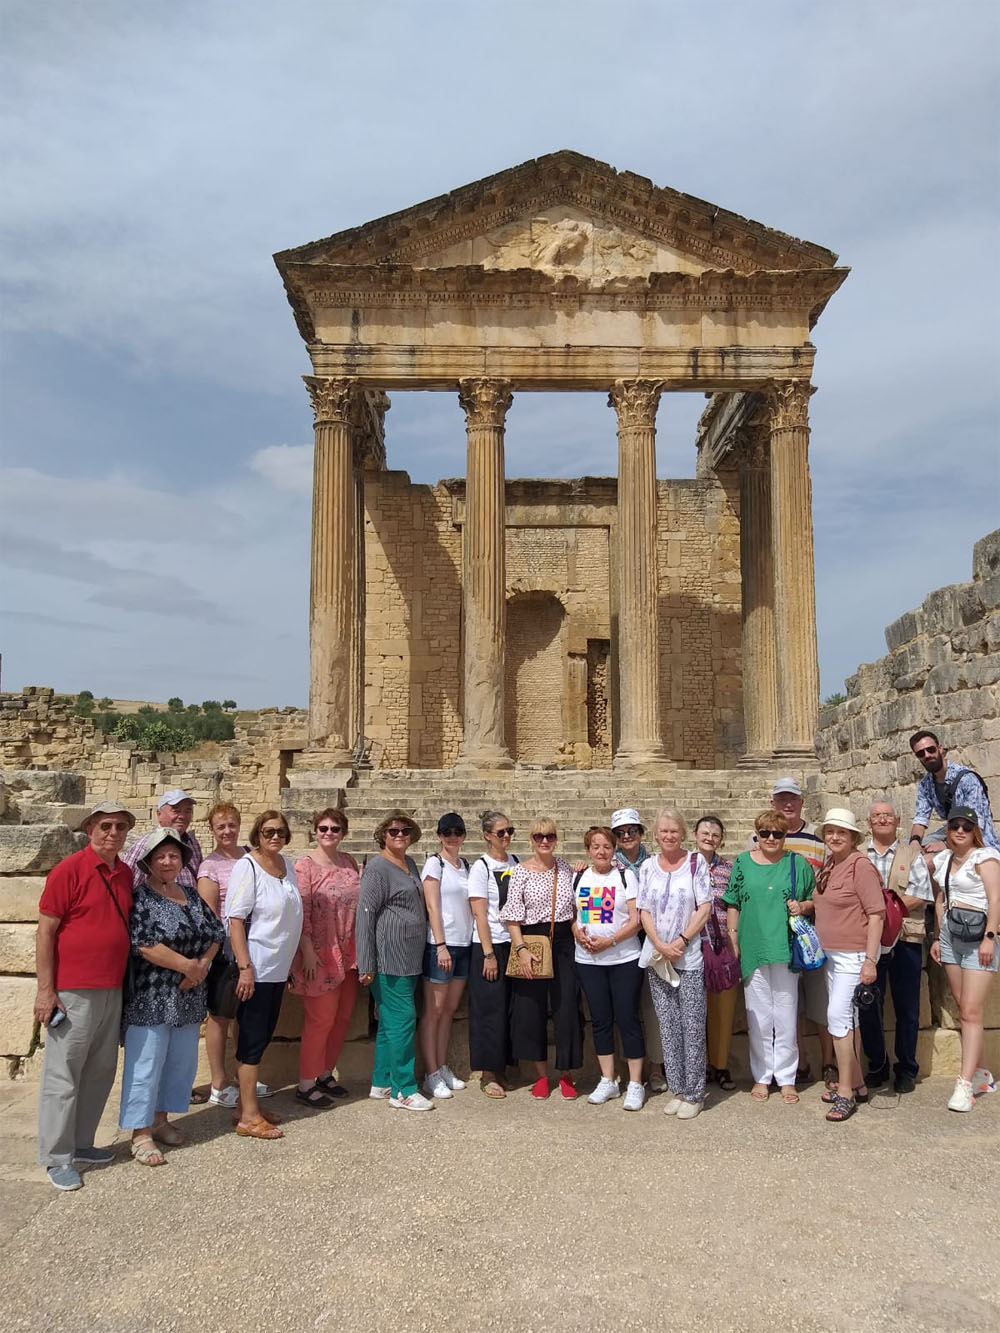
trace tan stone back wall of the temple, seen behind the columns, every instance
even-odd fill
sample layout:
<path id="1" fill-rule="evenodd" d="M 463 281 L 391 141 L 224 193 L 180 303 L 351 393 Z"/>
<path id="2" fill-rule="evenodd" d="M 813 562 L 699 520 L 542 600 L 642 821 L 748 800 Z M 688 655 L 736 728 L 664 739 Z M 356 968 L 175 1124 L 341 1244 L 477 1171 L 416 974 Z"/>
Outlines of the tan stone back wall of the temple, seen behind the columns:
<path id="1" fill-rule="evenodd" d="M 531 762 L 604 766 L 617 485 L 511 480 L 505 500 L 508 745 Z M 459 754 L 464 504 L 463 481 L 367 477 L 365 734 L 385 768 L 448 768 Z M 659 481 L 657 528 L 667 749 L 696 768 L 732 766 L 743 749 L 735 473 Z M 532 607 L 544 625 L 528 623 Z"/>

